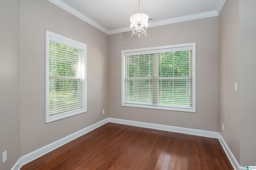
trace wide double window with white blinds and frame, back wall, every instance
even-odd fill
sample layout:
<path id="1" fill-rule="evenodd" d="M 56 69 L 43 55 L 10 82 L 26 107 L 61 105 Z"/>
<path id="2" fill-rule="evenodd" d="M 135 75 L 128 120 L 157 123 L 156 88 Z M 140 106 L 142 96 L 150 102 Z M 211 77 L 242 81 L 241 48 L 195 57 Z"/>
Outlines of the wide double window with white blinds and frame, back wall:
<path id="1" fill-rule="evenodd" d="M 196 112 L 196 43 L 122 51 L 122 106 Z"/>

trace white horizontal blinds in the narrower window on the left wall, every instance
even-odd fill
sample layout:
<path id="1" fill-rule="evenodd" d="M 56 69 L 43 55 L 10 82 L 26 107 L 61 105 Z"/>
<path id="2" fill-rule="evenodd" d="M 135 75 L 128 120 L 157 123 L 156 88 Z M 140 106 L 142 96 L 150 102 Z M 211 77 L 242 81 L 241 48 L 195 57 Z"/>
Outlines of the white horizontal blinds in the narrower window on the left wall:
<path id="1" fill-rule="evenodd" d="M 49 44 L 49 114 L 84 107 L 84 51 L 61 43 Z"/>

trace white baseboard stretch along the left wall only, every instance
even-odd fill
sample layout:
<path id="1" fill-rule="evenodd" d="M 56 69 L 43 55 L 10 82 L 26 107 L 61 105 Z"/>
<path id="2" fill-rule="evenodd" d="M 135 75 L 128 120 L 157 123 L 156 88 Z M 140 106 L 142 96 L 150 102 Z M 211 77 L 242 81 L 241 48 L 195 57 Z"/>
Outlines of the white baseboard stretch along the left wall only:
<path id="1" fill-rule="evenodd" d="M 97 123 L 94 123 L 93 125 L 90 125 L 80 131 L 77 131 L 75 133 L 72 133 L 71 135 L 68 135 L 58 141 L 55 141 L 53 143 L 50 143 L 49 145 L 46 145 L 40 149 L 37 149 L 33 152 L 30 152 L 24 156 L 22 156 L 16 164 L 12 167 L 11 170 L 20 170 L 20 168 L 24 165 L 27 164 L 28 162 L 31 162 L 32 160 L 35 160 L 36 158 L 39 158 L 40 156 L 43 156 L 44 154 L 47 154 L 48 152 L 57 149 L 58 147 L 61 147 L 62 145 L 65 145 L 66 143 L 108 123 L 108 118 L 99 121 Z"/>

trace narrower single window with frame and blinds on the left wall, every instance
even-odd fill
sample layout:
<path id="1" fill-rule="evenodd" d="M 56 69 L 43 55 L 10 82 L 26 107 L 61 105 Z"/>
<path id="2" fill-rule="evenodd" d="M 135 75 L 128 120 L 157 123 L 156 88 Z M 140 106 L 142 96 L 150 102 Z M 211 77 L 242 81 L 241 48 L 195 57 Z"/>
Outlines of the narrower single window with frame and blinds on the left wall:
<path id="1" fill-rule="evenodd" d="M 86 45 L 46 31 L 46 123 L 86 112 Z"/>

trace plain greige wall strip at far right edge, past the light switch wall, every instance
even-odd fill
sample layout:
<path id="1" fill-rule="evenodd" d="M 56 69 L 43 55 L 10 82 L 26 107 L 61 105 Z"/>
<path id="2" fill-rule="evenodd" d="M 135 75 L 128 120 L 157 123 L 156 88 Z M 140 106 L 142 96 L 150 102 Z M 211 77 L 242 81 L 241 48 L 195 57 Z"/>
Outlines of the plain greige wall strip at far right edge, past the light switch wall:
<path id="1" fill-rule="evenodd" d="M 256 1 L 240 0 L 240 165 L 256 166 Z"/>

